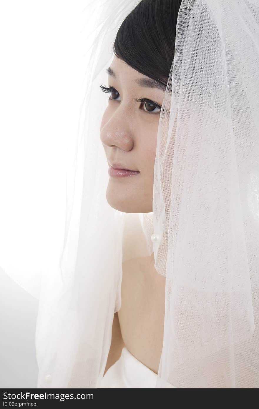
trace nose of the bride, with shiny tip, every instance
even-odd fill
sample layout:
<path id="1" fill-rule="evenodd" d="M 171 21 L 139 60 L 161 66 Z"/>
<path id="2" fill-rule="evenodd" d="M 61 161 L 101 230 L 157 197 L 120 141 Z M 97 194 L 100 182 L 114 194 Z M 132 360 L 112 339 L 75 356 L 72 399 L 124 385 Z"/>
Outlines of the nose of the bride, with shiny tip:
<path id="1" fill-rule="evenodd" d="M 104 146 L 117 147 L 122 151 L 133 149 L 134 139 L 129 120 L 119 108 L 112 116 L 109 116 L 109 112 L 104 114 L 102 121 L 104 125 L 100 131 L 101 142 Z"/>

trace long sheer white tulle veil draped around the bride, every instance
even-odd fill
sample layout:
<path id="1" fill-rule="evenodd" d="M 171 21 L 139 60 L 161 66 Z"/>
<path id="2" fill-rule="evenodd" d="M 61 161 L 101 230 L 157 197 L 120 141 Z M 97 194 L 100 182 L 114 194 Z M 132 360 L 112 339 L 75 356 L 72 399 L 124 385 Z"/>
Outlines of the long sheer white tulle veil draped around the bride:
<path id="1" fill-rule="evenodd" d="M 154 253 L 166 278 L 156 388 L 257 388 L 259 1 L 182 0 L 158 127 L 153 212 L 129 214 L 106 201 L 99 131 L 107 99 L 99 84 L 117 30 L 137 4 L 92 1 L 84 10 L 91 54 L 66 178 L 63 246 L 41 279 L 38 387 L 99 387 L 130 232 L 135 251 L 126 256 Z"/>

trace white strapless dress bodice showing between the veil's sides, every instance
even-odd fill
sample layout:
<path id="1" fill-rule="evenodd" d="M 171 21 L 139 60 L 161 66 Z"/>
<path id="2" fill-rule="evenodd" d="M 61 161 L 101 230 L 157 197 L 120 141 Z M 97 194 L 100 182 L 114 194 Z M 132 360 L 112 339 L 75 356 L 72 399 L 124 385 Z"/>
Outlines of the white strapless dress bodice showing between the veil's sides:
<path id="1" fill-rule="evenodd" d="M 106 371 L 99 388 L 155 388 L 157 376 L 124 346 L 119 360 Z M 165 388 L 175 387 L 167 384 Z"/>

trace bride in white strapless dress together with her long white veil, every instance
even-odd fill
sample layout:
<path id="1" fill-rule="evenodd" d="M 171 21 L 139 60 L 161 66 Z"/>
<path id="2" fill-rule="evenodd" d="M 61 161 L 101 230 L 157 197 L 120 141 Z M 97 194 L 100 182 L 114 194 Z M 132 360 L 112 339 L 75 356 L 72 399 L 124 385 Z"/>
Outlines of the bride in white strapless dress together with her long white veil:
<path id="1" fill-rule="evenodd" d="M 259 387 L 258 8 L 88 2 L 38 387 Z"/>

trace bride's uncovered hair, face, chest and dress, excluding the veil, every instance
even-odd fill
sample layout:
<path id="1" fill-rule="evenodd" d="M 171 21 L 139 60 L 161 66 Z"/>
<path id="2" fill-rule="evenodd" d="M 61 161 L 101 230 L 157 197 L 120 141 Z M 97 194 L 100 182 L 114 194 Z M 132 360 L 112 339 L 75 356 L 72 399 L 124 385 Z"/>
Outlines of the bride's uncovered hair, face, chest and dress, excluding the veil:
<path id="1" fill-rule="evenodd" d="M 110 166 L 106 198 L 110 206 L 122 212 L 152 212 L 158 123 L 174 57 L 179 7 L 180 1 L 140 2 L 117 33 L 115 57 L 108 68 L 110 86 L 101 85 L 104 92 L 110 93 L 100 130 Z M 136 101 L 138 95 L 145 99 Z M 114 171 L 114 168 L 138 173 Z M 123 366 L 122 359 L 117 362 L 113 368 L 117 378 L 107 381 L 106 375 L 102 387 L 155 387 L 158 373 L 163 345 L 165 278 L 154 268 L 153 253 L 148 257 L 134 254 L 134 231 L 127 231 L 124 240 L 123 254 L 130 249 L 132 254 L 122 264 L 122 306 L 114 316 L 104 373 L 119 359 L 123 347 L 122 358 L 126 364 Z M 128 383 L 124 383 L 126 374 L 122 375 L 122 368 L 131 367 L 128 359 L 137 365 L 139 376 L 136 379 L 136 371 L 128 373 Z"/>

